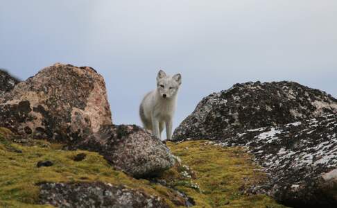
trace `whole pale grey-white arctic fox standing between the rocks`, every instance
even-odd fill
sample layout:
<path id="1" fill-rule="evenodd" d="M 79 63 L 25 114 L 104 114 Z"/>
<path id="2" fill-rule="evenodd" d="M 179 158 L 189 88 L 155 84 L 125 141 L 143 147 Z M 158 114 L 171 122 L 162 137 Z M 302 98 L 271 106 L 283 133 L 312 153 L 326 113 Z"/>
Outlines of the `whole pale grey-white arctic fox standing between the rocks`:
<path id="1" fill-rule="evenodd" d="M 139 106 L 139 116 L 146 130 L 161 139 L 164 125 L 166 139 L 172 136 L 172 120 L 177 102 L 177 94 L 182 84 L 180 73 L 166 76 L 162 70 L 157 75 L 157 88 L 144 96 Z"/>

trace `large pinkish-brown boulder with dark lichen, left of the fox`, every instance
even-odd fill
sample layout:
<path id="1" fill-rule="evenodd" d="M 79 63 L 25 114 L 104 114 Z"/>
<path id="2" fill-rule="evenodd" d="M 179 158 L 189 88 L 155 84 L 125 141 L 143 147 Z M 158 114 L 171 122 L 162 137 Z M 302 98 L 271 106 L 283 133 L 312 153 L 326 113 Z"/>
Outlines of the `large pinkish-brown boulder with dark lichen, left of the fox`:
<path id="1" fill-rule="evenodd" d="M 105 82 L 91 67 L 57 63 L 0 96 L 0 126 L 24 137 L 74 142 L 109 124 Z"/>

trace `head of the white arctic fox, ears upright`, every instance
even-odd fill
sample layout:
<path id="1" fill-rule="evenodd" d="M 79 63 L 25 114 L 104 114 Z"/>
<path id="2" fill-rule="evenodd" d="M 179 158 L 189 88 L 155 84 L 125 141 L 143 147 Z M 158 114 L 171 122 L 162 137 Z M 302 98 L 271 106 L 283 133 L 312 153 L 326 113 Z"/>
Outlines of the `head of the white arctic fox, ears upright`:
<path id="1" fill-rule="evenodd" d="M 157 75 L 157 92 L 162 98 L 172 98 L 178 93 L 178 89 L 182 84 L 182 76 L 180 73 L 174 76 L 166 76 L 166 73 L 159 70 Z"/>

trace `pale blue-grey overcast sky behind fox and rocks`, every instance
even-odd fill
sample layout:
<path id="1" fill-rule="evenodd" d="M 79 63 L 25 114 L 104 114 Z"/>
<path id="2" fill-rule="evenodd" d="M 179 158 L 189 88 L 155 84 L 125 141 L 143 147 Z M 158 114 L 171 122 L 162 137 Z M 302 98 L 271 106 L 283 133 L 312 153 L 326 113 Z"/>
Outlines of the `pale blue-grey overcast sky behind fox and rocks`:
<path id="1" fill-rule="evenodd" d="M 337 97 L 337 1 L 0 0 L 0 68 L 104 76 L 114 123 L 140 125 L 159 69 L 182 73 L 174 126 L 235 83 L 293 80 Z"/>

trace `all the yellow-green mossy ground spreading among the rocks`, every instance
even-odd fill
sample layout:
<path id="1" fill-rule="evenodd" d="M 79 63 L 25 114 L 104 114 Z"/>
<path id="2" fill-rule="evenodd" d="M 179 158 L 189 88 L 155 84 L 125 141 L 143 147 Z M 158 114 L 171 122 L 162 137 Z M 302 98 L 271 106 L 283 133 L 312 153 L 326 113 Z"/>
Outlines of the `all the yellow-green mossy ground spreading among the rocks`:
<path id="1" fill-rule="evenodd" d="M 43 140 L 17 144 L 10 137 L 14 136 L 9 130 L 0 128 L 0 207 L 50 207 L 38 205 L 38 183 L 92 181 L 141 189 L 164 198 L 171 207 L 183 201 L 174 189 L 193 198 L 195 207 L 282 207 L 267 196 L 243 193 L 264 175 L 241 148 L 221 148 L 206 141 L 168 143 L 182 162 L 153 182 L 115 170 L 98 153 L 62 150 L 62 145 Z M 76 162 L 79 153 L 86 157 Z M 44 160 L 53 166 L 37 168 L 37 162 Z"/>

